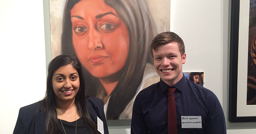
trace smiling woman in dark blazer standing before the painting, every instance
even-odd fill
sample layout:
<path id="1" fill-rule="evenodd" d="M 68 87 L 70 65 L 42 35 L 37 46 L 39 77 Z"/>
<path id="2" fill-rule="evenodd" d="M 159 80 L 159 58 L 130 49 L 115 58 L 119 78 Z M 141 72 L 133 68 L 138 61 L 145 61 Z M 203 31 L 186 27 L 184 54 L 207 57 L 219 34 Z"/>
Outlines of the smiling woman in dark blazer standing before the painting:
<path id="1" fill-rule="evenodd" d="M 81 63 L 59 55 L 48 66 L 45 98 L 20 108 L 14 134 L 98 134 L 97 117 L 108 134 L 103 102 L 85 96 Z"/>

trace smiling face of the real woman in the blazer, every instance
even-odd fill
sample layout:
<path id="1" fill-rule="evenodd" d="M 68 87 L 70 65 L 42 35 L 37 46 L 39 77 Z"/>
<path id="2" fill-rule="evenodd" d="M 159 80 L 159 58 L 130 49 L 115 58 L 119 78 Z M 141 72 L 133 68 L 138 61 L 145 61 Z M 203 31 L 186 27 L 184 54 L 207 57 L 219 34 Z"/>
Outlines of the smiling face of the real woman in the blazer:
<path id="1" fill-rule="evenodd" d="M 52 87 L 56 101 L 69 101 L 75 98 L 80 86 L 79 75 L 71 64 L 61 66 L 52 77 Z"/>

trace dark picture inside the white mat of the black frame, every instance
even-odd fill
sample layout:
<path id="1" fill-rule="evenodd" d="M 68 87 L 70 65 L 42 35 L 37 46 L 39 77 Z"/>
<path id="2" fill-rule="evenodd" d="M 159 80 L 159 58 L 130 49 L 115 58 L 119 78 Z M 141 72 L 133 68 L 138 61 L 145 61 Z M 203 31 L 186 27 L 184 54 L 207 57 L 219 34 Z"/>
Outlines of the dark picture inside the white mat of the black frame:
<path id="1" fill-rule="evenodd" d="M 256 1 L 250 1 L 247 105 L 256 105 Z"/>

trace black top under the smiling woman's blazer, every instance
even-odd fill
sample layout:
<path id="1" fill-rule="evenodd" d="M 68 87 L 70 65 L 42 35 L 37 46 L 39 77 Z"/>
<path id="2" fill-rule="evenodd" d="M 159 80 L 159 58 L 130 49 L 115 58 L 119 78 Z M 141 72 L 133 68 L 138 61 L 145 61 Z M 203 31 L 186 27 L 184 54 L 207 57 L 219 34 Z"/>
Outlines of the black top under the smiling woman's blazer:
<path id="1" fill-rule="evenodd" d="M 65 134 L 64 129 L 61 125 L 61 122 L 67 134 L 92 134 L 88 126 L 85 125 L 82 118 L 79 118 L 78 120 L 73 122 L 67 122 L 66 120 L 60 121 L 58 119 L 59 129 L 62 132 L 61 134 Z"/>

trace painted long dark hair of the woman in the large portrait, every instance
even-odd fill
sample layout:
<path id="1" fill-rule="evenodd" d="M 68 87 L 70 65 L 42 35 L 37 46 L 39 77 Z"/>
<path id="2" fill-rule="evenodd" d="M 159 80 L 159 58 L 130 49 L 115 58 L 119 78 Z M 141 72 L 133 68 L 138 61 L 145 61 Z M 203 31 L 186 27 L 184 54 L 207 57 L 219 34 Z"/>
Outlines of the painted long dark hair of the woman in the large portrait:
<path id="1" fill-rule="evenodd" d="M 62 54 L 75 54 L 70 10 L 79 1 L 81 0 L 68 0 L 66 3 L 62 30 Z M 144 0 L 105 0 L 105 2 L 116 10 L 120 19 L 126 24 L 130 38 L 129 54 L 125 66 L 120 71 L 119 82 L 111 92 L 106 113 L 107 119 L 118 119 L 140 86 L 146 63 L 152 63 L 149 45 L 156 29 Z M 103 88 L 99 78 L 93 77 L 85 68 L 84 73 L 87 76 L 85 83 L 89 85 L 86 87 L 86 93 L 96 96 L 98 89 Z"/>

